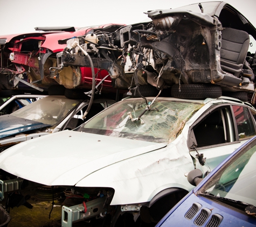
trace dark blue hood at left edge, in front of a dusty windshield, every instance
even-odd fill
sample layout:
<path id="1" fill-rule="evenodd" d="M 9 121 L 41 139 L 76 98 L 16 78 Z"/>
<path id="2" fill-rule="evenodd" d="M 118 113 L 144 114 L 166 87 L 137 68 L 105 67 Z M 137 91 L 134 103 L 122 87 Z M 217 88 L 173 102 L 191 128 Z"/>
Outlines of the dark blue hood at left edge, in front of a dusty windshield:
<path id="1" fill-rule="evenodd" d="M 3 115 L 0 117 L 0 139 L 45 126 L 49 125 L 25 118 Z"/>

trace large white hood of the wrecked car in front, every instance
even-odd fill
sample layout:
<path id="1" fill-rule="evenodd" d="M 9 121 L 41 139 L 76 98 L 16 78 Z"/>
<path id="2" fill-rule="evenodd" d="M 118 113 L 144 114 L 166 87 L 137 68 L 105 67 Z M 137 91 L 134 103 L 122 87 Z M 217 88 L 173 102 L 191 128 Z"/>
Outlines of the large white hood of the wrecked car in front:
<path id="1" fill-rule="evenodd" d="M 5 150 L 0 168 L 43 185 L 74 186 L 99 169 L 164 146 L 65 130 Z"/>

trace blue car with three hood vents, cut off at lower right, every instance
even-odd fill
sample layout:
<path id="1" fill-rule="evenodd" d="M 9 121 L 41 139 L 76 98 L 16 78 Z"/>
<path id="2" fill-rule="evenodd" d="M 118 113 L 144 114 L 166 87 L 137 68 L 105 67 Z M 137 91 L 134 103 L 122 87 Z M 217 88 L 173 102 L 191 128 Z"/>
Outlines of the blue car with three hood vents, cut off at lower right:
<path id="1" fill-rule="evenodd" d="M 156 227 L 256 226 L 255 152 L 256 137 L 217 166 Z M 217 186 L 216 182 L 224 182 L 225 185 Z"/>

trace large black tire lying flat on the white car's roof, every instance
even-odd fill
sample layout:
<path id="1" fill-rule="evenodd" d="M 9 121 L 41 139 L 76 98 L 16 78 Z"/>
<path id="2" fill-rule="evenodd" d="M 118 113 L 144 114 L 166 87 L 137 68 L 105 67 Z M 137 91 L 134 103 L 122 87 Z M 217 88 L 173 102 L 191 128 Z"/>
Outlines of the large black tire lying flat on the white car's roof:
<path id="1" fill-rule="evenodd" d="M 171 97 L 186 98 L 188 100 L 202 100 L 222 96 L 222 88 L 215 84 L 174 84 L 171 87 Z"/>

